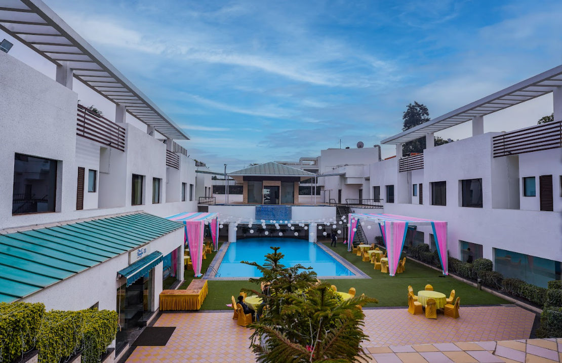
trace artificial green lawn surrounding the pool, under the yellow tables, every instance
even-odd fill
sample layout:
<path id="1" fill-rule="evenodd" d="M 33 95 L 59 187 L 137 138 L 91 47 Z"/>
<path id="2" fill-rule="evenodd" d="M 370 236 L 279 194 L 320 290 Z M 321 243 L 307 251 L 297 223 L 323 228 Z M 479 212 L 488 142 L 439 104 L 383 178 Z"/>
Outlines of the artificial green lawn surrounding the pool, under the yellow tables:
<path id="1" fill-rule="evenodd" d="M 329 243 L 325 243 L 329 247 Z M 219 246 L 220 248 L 220 246 Z M 502 298 L 490 293 L 479 291 L 477 288 L 460 282 L 451 276 L 443 276 L 440 271 L 426 267 L 418 262 L 406 260 L 406 271 L 396 276 L 383 274 L 380 270 L 374 270 L 373 264 L 361 261 L 360 256 L 347 252 L 343 244 L 330 247 L 339 255 L 346 258 L 361 271 L 369 275 L 371 279 L 326 279 L 325 281 L 336 285 L 338 291 L 347 292 L 349 288 L 355 287 L 358 295 L 365 293 L 366 296 L 376 298 L 379 303 L 371 303 L 366 306 L 407 306 L 407 287 L 412 285 L 414 293 L 423 290 L 426 284 L 433 285 L 434 291 L 449 295 L 451 289 L 455 289 L 456 296 L 460 297 L 461 305 L 493 305 L 508 303 Z M 280 250 L 280 252 L 283 252 Z M 211 264 L 216 252 L 207 255 L 203 260 L 201 273 L 204 274 Z M 283 260 L 281 260 L 283 262 Z M 180 288 L 187 288 L 193 278 L 193 270 L 185 271 L 185 282 Z M 209 281 L 209 294 L 203 302 L 201 310 L 225 310 L 226 304 L 230 303 L 230 297 L 237 297 L 241 288 L 259 289 L 256 284 L 247 281 Z"/>

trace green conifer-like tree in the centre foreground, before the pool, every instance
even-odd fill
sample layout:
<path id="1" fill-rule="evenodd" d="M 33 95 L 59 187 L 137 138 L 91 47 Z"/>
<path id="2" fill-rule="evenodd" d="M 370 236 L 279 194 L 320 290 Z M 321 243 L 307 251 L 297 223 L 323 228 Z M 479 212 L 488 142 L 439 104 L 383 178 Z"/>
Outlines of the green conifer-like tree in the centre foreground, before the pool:
<path id="1" fill-rule="evenodd" d="M 361 341 L 368 340 L 362 332 L 365 315 L 361 306 L 377 300 L 361 296 L 343 301 L 329 284 L 319 282 L 311 267 L 285 267 L 280 264 L 283 254 L 278 252 L 279 247 L 271 249 L 274 252 L 266 255 L 263 266 L 242 261 L 256 266 L 262 273 L 261 278 L 250 282 L 269 286 L 268 294 L 252 291 L 263 301 L 259 323 L 251 325 L 255 330 L 250 339 L 257 360 L 265 363 L 365 360 L 359 355 Z"/>

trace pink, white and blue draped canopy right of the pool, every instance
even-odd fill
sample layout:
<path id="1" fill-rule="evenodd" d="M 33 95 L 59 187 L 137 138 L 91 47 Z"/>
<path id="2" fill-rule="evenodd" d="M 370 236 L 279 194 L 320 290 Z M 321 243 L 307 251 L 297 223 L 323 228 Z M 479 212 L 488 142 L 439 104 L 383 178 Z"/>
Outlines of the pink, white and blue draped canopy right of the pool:
<path id="1" fill-rule="evenodd" d="M 439 260 L 441 260 L 441 266 L 443 267 L 443 274 L 448 275 L 448 262 L 447 262 L 447 222 L 423 219 L 409 216 L 400 216 L 395 214 L 360 214 L 352 213 L 349 215 L 349 220 L 355 219 L 355 225 L 350 228 L 350 251 L 352 247 L 353 235 L 351 234 L 352 229 L 355 228 L 357 221 L 371 220 L 378 223 L 380 226 L 380 233 L 383 236 L 384 244 L 387 247 L 388 253 L 388 267 L 389 274 L 394 276 L 398 268 L 398 263 L 400 262 L 400 255 L 402 249 L 404 248 L 404 242 L 406 241 L 406 232 L 409 225 L 428 225 L 431 226 L 433 230 L 433 235 L 436 240 L 437 252 L 439 254 Z"/>

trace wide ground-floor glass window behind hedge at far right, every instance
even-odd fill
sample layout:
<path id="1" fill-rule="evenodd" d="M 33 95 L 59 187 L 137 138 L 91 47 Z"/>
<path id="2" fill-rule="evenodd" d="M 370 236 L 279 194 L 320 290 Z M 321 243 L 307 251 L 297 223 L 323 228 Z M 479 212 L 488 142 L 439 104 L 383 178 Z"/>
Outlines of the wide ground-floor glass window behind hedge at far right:
<path id="1" fill-rule="evenodd" d="M 494 248 L 494 269 L 504 278 L 522 279 L 540 287 L 560 280 L 560 261 Z"/>

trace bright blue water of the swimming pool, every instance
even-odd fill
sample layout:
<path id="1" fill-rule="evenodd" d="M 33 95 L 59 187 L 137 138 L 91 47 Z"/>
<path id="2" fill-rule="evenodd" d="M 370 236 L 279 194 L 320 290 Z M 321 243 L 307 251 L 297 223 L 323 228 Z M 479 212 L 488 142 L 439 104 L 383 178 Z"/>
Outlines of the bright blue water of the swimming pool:
<path id="1" fill-rule="evenodd" d="M 260 277 L 261 273 L 256 267 L 241 264 L 240 261 L 255 261 L 263 265 L 266 253 L 273 252 L 270 246 L 280 247 L 279 252 L 285 255 L 280 263 L 285 266 L 301 264 L 312 267 L 318 276 L 353 275 L 323 249 L 303 239 L 248 238 L 230 243 L 219 266 L 220 277 Z"/>

